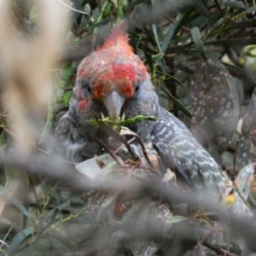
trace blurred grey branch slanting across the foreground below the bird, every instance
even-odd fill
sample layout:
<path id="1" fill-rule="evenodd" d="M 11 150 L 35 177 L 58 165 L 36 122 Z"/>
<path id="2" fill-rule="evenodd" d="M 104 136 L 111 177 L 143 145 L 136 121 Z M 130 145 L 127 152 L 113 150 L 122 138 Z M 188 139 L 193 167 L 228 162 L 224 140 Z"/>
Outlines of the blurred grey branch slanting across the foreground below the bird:
<path id="1" fill-rule="evenodd" d="M 236 212 L 230 212 L 223 206 L 220 206 L 218 202 L 212 200 L 211 196 L 205 193 L 204 195 L 195 195 L 193 193 L 186 193 L 177 189 L 173 186 L 166 186 L 161 183 L 160 180 L 154 179 L 148 182 L 137 183 L 131 180 L 123 180 L 122 183 L 116 182 L 114 180 L 96 180 L 90 183 L 89 180 L 84 177 L 83 174 L 77 172 L 73 169 L 73 166 L 64 164 L 58 160 L 47 160 L 44 163 L 35 162 L 31 159 L 20 158 L 19 156 L 9 154 L 4 156 L 0 154 L 0 166 L 1 169 L 9 167 L 19 168 L 25 172 L 31 172 L 32 174 L 40 174 L 44 177 L 54 178 L 56 180 L 61 180 L 65 183 L 69 183 L 73 188 L 79 191 L 89 191 L 90 189 L 101 188 L 106 192 L 119 192 L 119 193 L 137 193 L 143 195 L 144 193 L 156 193 L 157 195 L 162 195 L 162 197 L 168 201 L 175 201 L 180 204 L 188 203 L 190 207 L 205 208 L 207 212 L 214 212 L 219 218 L 224 219 L 225 223 L 233 223 L 236 229 L 230 230 L 230 234 L 235 236 L 241 241 L 246 242 L 247 248 L 250 250 L 256 250 L 255 236 L 256 236 L 256 225 L 252 223 L 252 220 L 243 217 L 237 217 Z M 148 230 L 140 230 L 148 232 Z M 180 230 L 181 236 L 191 236 L 188 232 L 183 232 Z M 151 230 L 154 232 L 154 230 Z M 221 255 L 221 254 L 220 254 Z M 231 254 L 228 254 L 231 255 Z"/>

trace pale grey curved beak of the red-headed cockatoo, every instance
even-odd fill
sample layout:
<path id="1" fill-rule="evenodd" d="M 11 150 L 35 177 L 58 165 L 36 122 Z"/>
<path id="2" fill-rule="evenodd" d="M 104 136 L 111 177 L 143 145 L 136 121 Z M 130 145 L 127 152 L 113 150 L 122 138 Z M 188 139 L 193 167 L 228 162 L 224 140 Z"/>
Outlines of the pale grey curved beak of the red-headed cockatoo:
<path id="1" fill-rule="evenodd" d="M 105 107 L 108 109 L 109 118 L 113 121 L 119 119 L 121 108 L 124 105 L 125 97 L 120 96 L 116 90 L 112 90 L 102 99 Z"/>

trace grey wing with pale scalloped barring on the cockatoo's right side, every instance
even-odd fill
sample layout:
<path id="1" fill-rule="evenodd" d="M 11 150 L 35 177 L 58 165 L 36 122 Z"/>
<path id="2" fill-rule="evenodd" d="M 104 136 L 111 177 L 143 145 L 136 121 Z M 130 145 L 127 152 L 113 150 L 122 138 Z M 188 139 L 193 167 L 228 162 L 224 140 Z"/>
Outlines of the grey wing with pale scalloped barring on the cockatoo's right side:
<path id="1" fill-rule="evenodd" d="M 211 155 L 201 147 L 189 129 L 166 109 L 151 133 L 154 147 L 166 166 L 182 176 L 196 190 L 211 189 L 216 194 L 225 190 L 224 177 Z"/>

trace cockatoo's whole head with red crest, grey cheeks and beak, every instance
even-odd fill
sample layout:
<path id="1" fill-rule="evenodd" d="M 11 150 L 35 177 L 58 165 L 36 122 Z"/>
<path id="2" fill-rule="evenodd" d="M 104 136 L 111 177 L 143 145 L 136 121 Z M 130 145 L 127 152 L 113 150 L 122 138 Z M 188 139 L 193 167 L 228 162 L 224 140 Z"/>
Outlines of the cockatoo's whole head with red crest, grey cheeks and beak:
<path id="1" fill-rule="evenodd" d="M 125 28 L 125 22 L 115 26 L 102 47 L 79 65 L 73 96 L 84 118 L 98 112 L 113 121 L 120 115 L 154 115 L 154 88 L 143 61 L 128 44 Z"/>

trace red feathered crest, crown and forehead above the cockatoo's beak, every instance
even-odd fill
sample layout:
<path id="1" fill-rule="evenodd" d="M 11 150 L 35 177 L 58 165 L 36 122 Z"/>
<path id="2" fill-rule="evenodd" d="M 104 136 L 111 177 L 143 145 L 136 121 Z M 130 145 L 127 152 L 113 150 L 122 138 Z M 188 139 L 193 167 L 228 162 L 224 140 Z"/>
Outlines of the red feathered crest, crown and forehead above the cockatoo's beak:
<path id="1" fill-rule="evenodd" d="M 79 65 L 79 79 L 90 81 L 93 94 L 98 99 L 113 89 L 129 98 L 134 94 L 134 84 L 147 78 L 143 61 L 128 44 L 125 28 L 124 21 L 114 26 L 102 47 Z"/>

